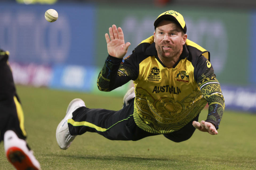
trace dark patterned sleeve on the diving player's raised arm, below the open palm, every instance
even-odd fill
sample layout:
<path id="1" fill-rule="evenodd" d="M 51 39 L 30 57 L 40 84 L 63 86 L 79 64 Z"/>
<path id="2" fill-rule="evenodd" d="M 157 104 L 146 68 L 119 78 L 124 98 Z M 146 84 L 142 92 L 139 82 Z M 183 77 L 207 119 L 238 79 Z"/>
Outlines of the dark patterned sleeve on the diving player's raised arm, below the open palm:
<path id="1" fill-rule="evenodd" d="M 126 84 L 130 80 L 134 80 L 136 77 L 134 69 L 128 63 L 123 64 L 122 61 L 122 59 L 112 56 L 107 57 L 97 79 L 99 90 L 111 91 Z"/>

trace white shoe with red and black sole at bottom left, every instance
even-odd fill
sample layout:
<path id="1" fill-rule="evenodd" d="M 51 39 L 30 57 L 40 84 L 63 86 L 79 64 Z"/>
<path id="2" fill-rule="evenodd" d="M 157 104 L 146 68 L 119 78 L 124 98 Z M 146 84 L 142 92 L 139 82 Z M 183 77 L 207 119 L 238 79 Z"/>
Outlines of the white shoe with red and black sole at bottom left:
<path id="1" fill-rule="evenodd" d="M 18 138 L 13 130 L 7 130 L 4 134 L 5 155 L 17 170 L 41 170 L 40 164 L 27 142 Z"/>

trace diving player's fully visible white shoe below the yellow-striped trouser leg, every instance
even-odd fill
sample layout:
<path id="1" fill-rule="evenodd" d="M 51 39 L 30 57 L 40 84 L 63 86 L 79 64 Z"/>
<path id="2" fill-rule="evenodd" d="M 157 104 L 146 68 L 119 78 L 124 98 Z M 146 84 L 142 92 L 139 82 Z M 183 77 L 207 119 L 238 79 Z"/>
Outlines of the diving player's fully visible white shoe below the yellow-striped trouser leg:
<path id="1" fill-rule="evenodd" d="M 85 106 L 85 102 L 83 102 L 82 99 L 73 99 L 67 107 L 66 116 L 64 117 L 64 119 L 62 119 L 56 129 L 56 139 L 61 149 L 68 149 L 72 141 L 76 137 L 76 135 L 71 135 L 69 133 L 69 126 L 67 124 L 67 120 L 71 119 L 73 117 L 73 112 L 77 110 L 77 108 L 82 106 Z"/>

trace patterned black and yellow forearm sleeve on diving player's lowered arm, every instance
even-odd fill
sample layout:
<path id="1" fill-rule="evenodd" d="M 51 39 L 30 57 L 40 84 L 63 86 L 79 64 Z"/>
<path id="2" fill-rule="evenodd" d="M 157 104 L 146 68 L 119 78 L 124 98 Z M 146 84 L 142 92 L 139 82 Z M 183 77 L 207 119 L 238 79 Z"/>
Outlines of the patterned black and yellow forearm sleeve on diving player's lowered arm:
<path id="1" fill-rule="evenodd" d="M 213 69 L 208 69 L 198 78 L 198 86 L 209 104 L 206 121 L 213 123 L 216 129 L 218 129 L 225 108 L 225 102 Z"/>

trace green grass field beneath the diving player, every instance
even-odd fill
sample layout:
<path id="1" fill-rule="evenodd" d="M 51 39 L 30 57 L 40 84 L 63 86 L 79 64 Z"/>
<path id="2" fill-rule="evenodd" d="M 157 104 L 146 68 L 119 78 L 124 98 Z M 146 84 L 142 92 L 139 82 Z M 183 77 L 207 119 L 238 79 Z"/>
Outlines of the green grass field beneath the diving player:
<path id="1" fill-rule="evenodd" d="M 163 135 L 139 141 L 111 141 L 97 133 L 77 136 L 67 150 L 58 147 L 55 130 L 73 98 L 89 108 L 119 110 L 122 97 L 17 86 L 25 115 L 27 141 L 43 170 L 70 169 L 256 169 L 256 114 L 225 111 L 219 134 L 195 131 L 184 142 Z M 109 92 L 111 93 L 111 92 Z M 106 101 L 108 101 L 106 103 Z M 205 120 L 203 110 L 199 120 Z M 0 147 L 0 170 L 14 169 Z"/>

